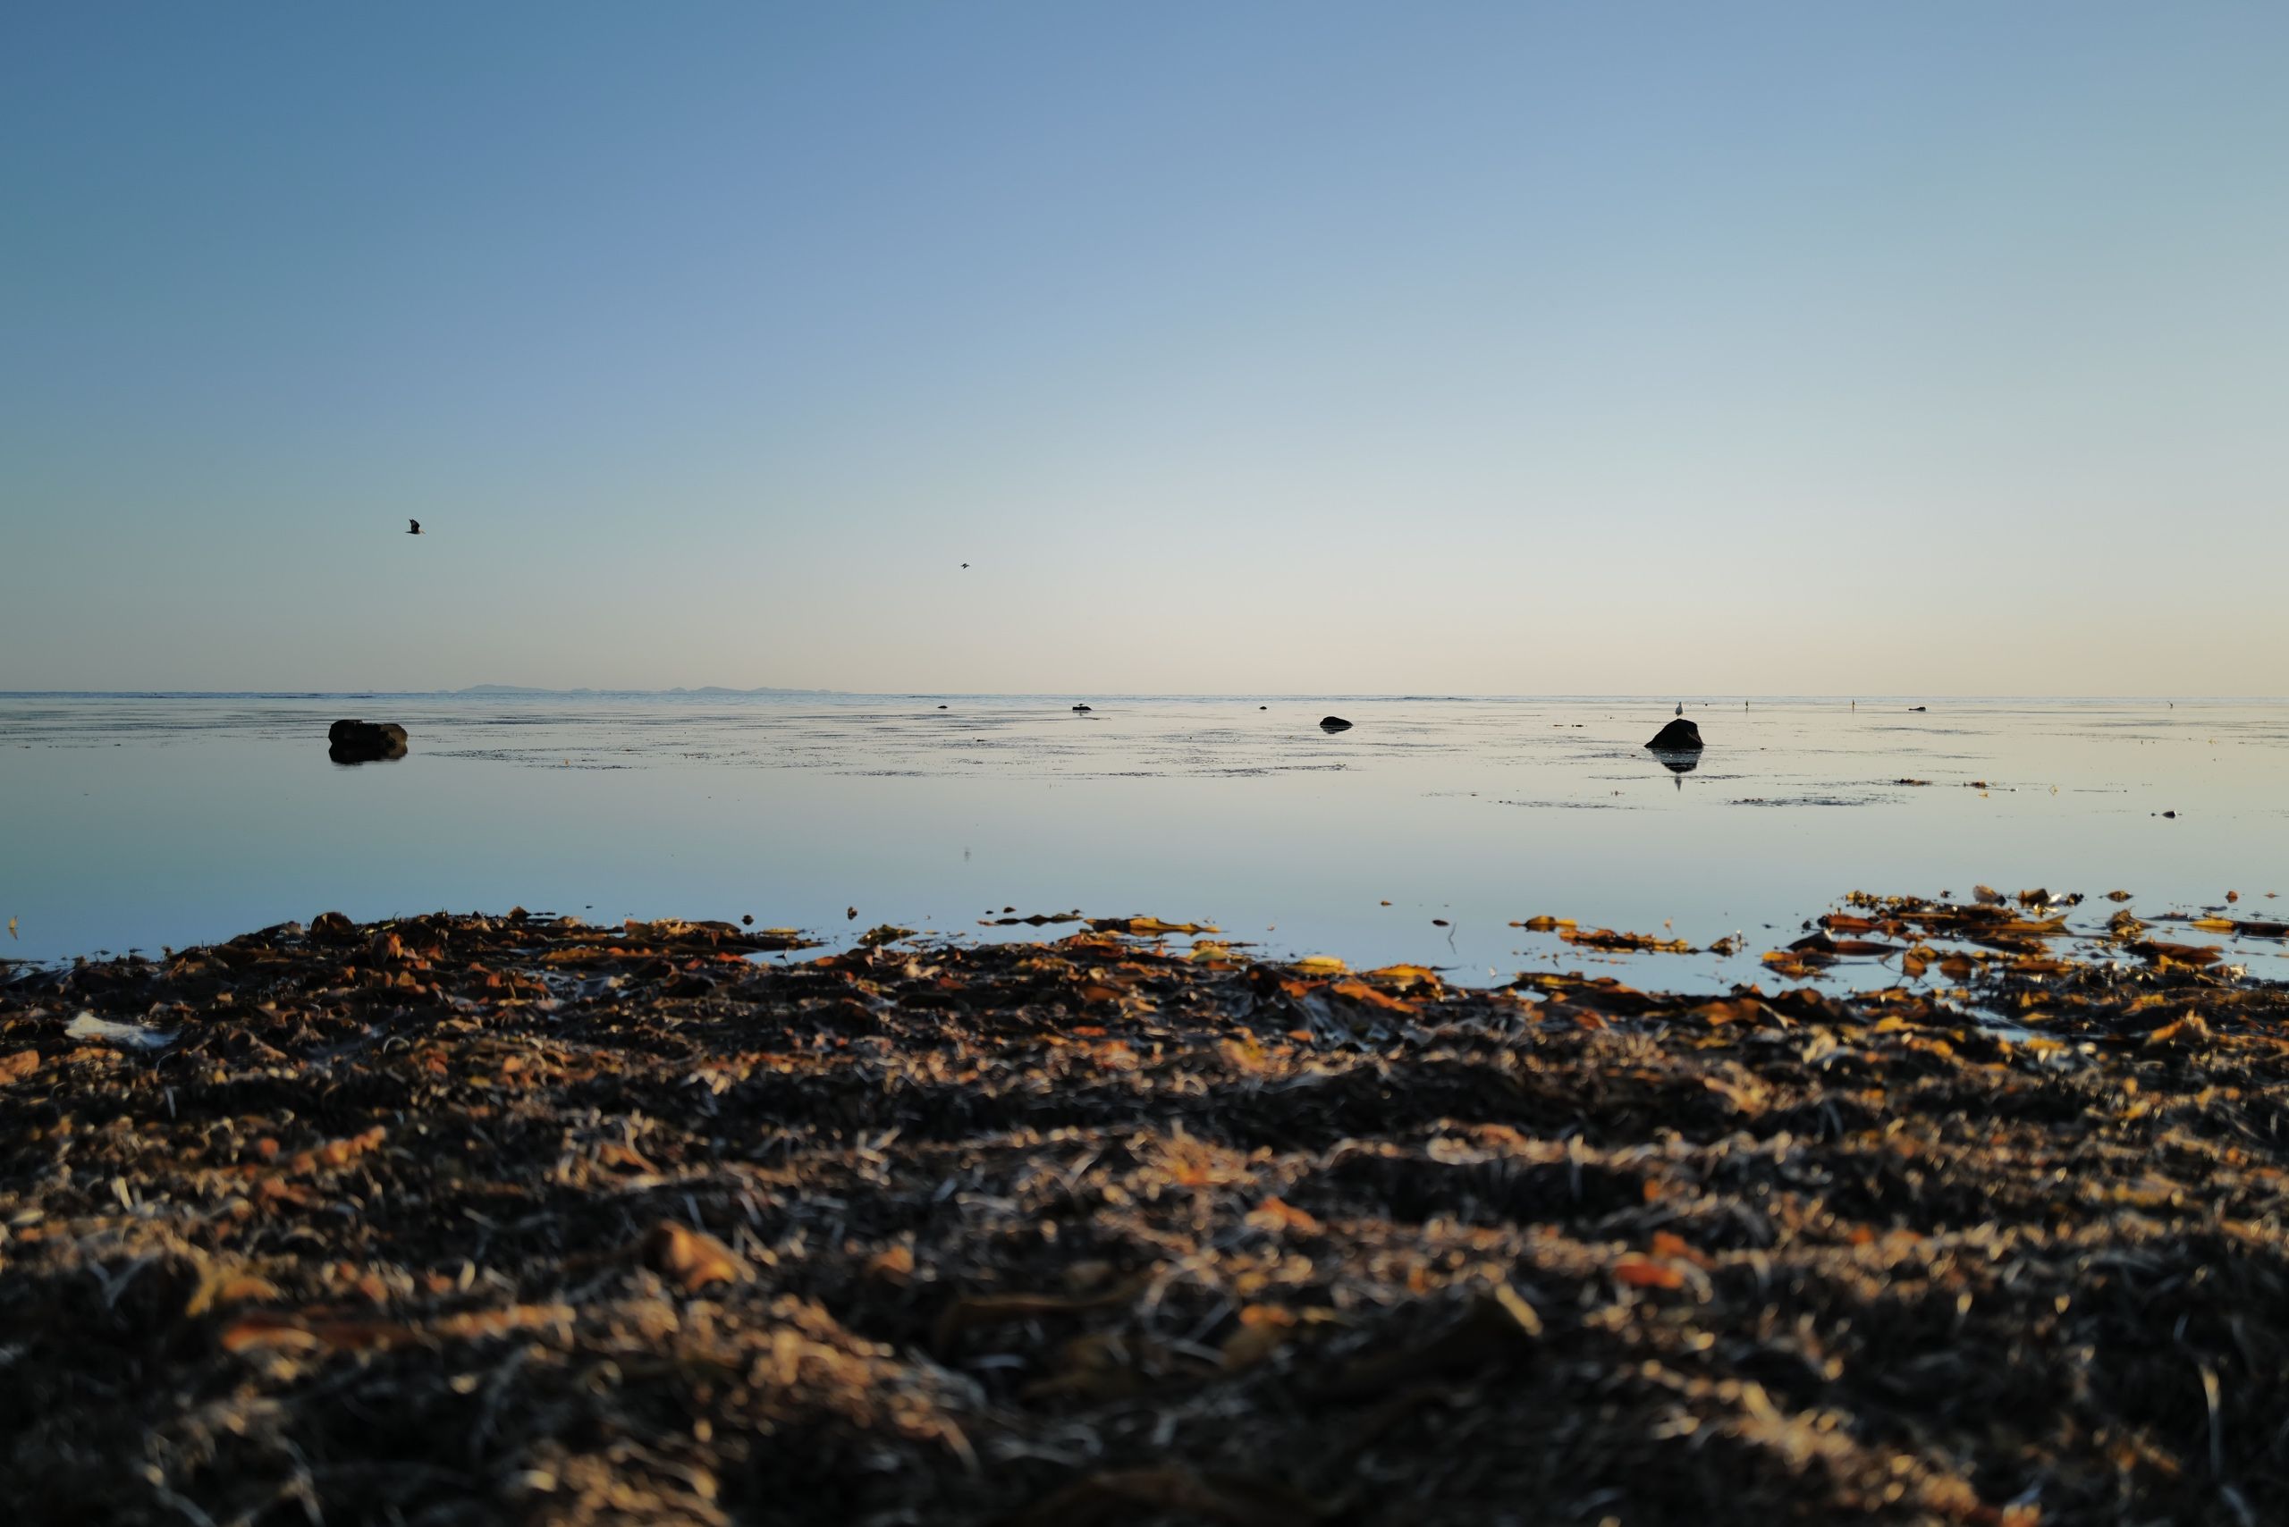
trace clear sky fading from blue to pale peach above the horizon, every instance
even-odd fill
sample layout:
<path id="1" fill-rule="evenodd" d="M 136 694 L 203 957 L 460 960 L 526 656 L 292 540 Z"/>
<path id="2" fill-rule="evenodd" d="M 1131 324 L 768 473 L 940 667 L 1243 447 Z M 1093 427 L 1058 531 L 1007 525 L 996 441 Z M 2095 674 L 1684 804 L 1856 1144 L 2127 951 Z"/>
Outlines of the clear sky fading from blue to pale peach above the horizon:
<path id="1" fill-rule="evenodd" d="M 16 5 L 0 689 L 2282 694 L 2284 78 L 2273 2 Z"/>

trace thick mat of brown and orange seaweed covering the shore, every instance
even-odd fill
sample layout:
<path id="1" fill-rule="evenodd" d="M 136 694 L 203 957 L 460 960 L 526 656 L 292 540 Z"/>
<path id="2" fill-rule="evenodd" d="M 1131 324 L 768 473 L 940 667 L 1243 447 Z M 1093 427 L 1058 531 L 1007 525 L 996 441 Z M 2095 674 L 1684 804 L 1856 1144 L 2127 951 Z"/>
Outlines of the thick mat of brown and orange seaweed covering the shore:
<path id="1" fill-rule="evenodd" d="M 522 913 L 18 975 L 9 1520 L 2289 1520 L 2289 994 L 1866 911 L 1774 964 L 1930 980 Z"/>

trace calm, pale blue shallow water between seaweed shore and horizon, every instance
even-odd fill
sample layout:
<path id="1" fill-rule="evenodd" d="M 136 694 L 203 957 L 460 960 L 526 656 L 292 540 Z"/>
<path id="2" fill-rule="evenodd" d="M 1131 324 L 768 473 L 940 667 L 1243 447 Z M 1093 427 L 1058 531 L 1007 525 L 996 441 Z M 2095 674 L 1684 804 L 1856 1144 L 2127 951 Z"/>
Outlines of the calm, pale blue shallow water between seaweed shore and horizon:
<path id="1" fill-rule="evenodd" d="M 2078 925 L 2113 888 L 2140 916 L 2227 891 L 2239 916 L 2289 916 L 2266 900 L 2289 893 L 2282 703 L 1692 703 L 1689 774 L 1641 746 L 1666 703 L 1069 703 L 0 696 L 0 957 L 156 952 L 325 909 L 753 913 L 829 941 L 1055 936 L 980 918 L 1083 909 L 1463 980 L 1682 987 L 1758 980 L 1758 952 L 1854 888 L 2081 891 Z M 1321 733 L 1328 712 L 1355 728 Z M 412 751 L 334 765 L 336 717 L 398 721 Z M 1742 932 L 1747 952 L 1609 959 L 1508 927 L 1534 913 Z M 2284 973 L 2280 941 L 2220 943 Z"/>

